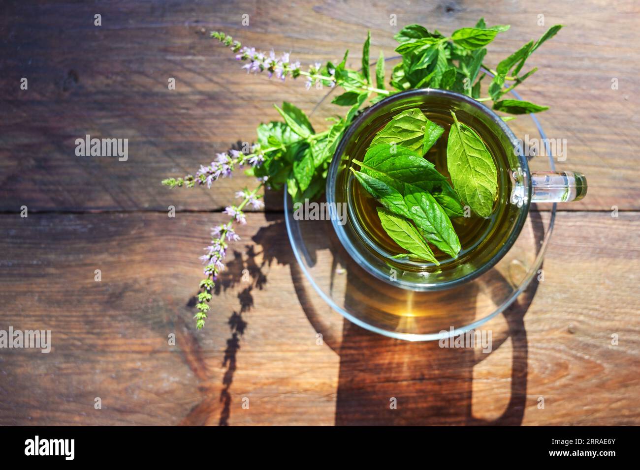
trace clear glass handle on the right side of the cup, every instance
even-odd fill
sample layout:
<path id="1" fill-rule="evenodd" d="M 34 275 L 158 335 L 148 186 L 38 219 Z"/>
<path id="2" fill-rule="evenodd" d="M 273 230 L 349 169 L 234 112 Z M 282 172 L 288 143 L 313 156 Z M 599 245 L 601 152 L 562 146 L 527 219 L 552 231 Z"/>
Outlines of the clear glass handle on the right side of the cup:
<path id="1" fill-rule="evenodd" d="M 531 202 L 579 201 L 587 194 L 587 178 L 577 171 L 532 171 Z"/>

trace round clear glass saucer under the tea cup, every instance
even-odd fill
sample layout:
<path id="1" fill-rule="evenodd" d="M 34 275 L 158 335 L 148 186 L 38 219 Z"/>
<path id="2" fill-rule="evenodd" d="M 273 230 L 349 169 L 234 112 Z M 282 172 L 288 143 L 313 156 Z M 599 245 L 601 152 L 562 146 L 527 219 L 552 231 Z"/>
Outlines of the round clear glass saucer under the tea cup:
<path id="1" fill-rule="evenodd" d="M 388 59 L 387 63 L 393 63 Z M 314 121 L 345 108 L 331 104 L 332 90 L 316 106 Z M 511 91 L 513 98 L 520 95 Z M 546 139 L 534 116 L 509 121 L 516 136 Z M 547 140 L 543 140 L 547 142 Z M 529 158 L 531 171 L 554 171 L 550 155 Z M 508 308 L 540 276 L 556 217 L 556 204 L 541 210 L 531 205 L 527 221 L 509 252 L 492 269 L 464 285 L 438 292 L 413 292 L 381 281 L 366 272 L 340 243 L 330 220 L 296 220 L 284 191 L 284 214 L 291 247 L 304 276 L 292 269 L 296 293 L 317 331 L 339 335 L 341 318 L 391 338 L 433 341 L 477 329 Z M 311 312 L 311 314 L 310 314 Z M 313 318 L 312 318 L 313 317 Z"/>

